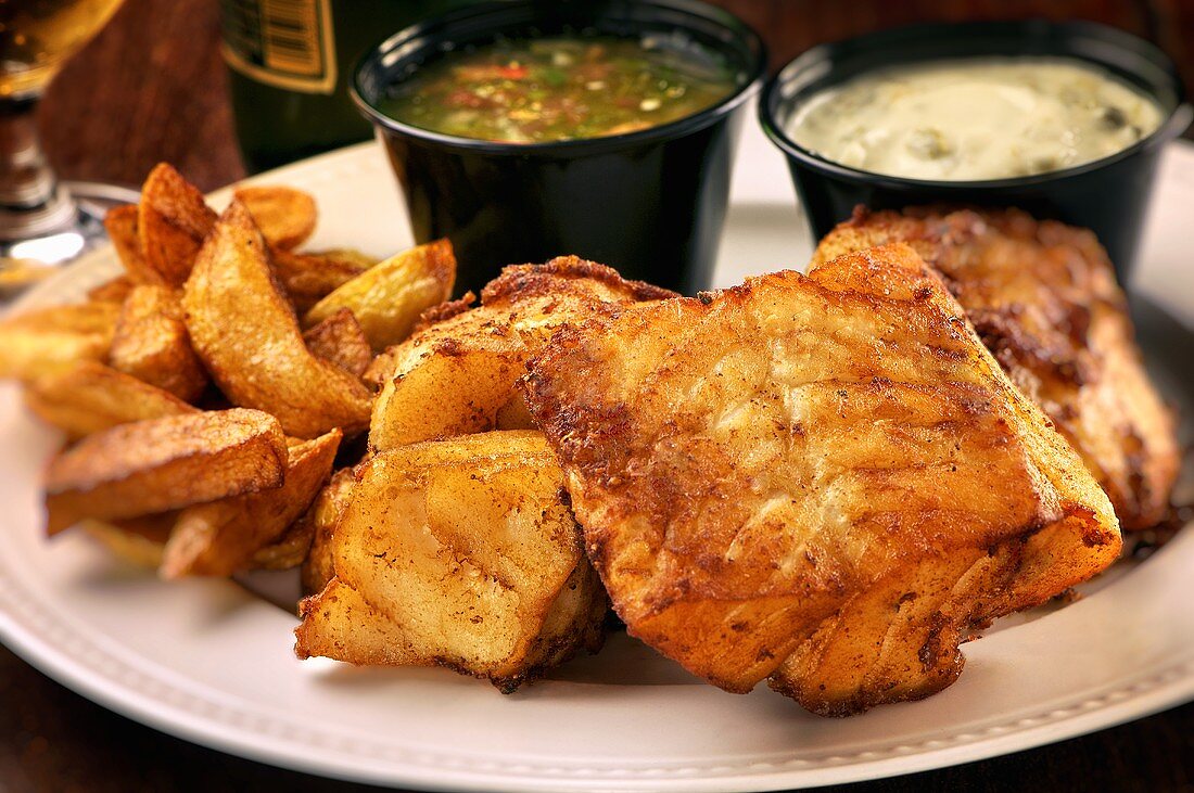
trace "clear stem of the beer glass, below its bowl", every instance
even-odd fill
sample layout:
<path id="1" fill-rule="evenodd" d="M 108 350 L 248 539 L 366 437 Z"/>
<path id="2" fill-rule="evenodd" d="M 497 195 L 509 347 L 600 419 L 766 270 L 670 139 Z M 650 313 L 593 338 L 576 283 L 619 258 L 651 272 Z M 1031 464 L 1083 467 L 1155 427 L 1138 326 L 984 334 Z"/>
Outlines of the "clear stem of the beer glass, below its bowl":
<path id="1" fill-rule="evenodd" d="M 0 100 L 0 240 L 51 233 L 75 217 L 42 150 L 36 111 L 37 98 Z"/>

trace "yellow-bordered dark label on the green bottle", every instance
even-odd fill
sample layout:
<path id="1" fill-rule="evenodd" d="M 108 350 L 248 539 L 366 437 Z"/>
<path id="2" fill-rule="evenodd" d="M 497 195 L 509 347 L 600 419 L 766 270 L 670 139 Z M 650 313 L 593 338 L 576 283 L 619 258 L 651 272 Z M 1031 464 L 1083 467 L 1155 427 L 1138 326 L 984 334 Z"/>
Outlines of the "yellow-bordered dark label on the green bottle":
<path id="1" fill-rule="evenodd" d="M 223 0 L 224 62 L 265 85 L 336 89 L 331 0 Z"/>

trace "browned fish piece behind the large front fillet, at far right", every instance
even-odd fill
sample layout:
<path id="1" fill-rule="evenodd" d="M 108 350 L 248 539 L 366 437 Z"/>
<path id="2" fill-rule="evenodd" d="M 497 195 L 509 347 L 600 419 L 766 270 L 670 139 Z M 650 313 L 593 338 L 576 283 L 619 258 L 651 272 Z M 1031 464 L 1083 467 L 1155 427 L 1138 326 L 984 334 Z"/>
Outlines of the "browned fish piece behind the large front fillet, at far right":
<path id="1" fill-rule="evenodd" d="M 813 267 L 907 242 L 944 277 L 1011 380 L 1053 420 L 1125 529 L 1169 509 L 1181 463 L 1174 415 L 1149 382 L 1124 293 L 1095 236 L 1017 210 L 860 211 Z"/>

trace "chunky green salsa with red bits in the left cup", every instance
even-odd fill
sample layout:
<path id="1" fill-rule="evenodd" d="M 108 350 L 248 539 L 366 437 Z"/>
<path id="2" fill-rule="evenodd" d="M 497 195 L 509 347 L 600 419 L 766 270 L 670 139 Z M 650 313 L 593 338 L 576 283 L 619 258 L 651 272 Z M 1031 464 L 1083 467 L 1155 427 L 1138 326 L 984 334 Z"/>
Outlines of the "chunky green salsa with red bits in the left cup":
<path id="1" fill-rule="evenodd" d="M 421 67 L 377 107 L 433 132 L 546 143 L 667 124 L 738 85 L 714 52 L 661 36 L 499 39 Z"/>

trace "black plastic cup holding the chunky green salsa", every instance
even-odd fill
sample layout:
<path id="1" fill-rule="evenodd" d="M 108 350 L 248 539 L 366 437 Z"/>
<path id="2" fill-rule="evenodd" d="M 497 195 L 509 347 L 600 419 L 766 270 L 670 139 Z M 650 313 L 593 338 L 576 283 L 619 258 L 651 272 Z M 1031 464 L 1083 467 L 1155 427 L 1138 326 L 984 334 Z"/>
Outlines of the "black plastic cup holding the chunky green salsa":
<path id="1" fill-rule="evenodd" d="M 694 116 L 628 135 L 494 143 L 432 132 L 377 110 L 388 86 L 444 51 L 498 36 L 682 33 L 726 58 L 739 87 Z M 693 292 L 709 284 L 726 213 L 738 112 L 767 57 L 736 17 L 696 0 L 504 0 L 420 23 L 357 66 L 353 95 L 406 196 L 418 241 L 451 238 L 457 292 L 507 264 L 577 254 L 627 278 Z"/>

